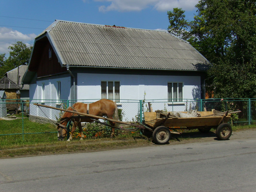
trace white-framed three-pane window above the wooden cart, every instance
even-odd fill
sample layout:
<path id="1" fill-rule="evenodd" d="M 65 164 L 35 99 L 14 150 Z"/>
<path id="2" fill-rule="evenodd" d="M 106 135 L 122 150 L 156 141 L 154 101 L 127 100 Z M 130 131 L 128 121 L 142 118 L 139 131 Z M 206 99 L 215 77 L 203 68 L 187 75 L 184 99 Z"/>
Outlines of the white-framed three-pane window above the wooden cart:
<path id="1" fill-rule="evenodd" d="M 175 102 L 183 99 L 183 83 L 171 82 L 168 83 L 168 101 Z"/>

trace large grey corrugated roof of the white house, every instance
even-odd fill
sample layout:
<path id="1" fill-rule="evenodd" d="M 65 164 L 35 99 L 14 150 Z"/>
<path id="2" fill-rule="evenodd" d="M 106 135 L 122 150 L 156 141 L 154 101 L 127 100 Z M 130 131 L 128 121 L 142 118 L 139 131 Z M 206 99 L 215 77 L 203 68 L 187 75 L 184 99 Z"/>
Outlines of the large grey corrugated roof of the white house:
<path id="1" fill-rule="evenodd" d="M 47 28 L 62 65 L 206 70 L 188 42 L 164 31 L 56 20 Z"/>

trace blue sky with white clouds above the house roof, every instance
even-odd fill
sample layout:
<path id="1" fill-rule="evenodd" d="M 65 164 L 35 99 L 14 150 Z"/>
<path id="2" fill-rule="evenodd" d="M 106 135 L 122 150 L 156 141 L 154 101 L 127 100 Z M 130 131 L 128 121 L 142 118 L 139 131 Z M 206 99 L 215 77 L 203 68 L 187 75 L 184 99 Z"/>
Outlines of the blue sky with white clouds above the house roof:
<path id="1" fill-rule="evenodd" d="M 33 44 L 34 38 L 55 19 L 166 30 L 167 11 L 183 8 L 187 19 L 192 20 L 197 3 L 198 0 L 2 0 L 0 54 L 8 57 L 8 46 L 16 41 Z"/>

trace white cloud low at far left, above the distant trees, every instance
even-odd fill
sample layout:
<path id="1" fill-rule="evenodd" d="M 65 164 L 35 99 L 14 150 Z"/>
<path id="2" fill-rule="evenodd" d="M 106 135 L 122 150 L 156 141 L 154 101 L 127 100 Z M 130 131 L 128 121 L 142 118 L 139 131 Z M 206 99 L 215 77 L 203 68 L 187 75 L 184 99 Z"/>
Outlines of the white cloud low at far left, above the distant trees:
<path id="1" fill-rule="evenodd" d="M 16 43 L 17 41 L 22 41 L 27 46 L 30 45 L 31 42 L 33 42 L 33 39 L 37 35 L 32 34 L 23 34 L 17 30 L 13 30 L 12 28 L 7 27 L 0 27 L 0 53 L 6 54 L 6 57 L 9 56 L 9 50 L 8 47 L 11 44 Z"/>

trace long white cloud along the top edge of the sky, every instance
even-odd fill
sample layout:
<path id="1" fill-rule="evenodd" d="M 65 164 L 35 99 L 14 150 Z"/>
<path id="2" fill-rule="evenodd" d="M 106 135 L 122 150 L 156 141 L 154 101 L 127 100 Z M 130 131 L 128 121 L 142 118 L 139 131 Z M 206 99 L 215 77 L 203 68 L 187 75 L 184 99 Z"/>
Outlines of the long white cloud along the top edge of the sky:
<path id="1" fill-rule="evenodd" d="M 198 3 L 198 0 L 94 0 L 98 2 L 110 2 L 108 6 L 101 5 L 100 12 L 107 11 L 141 11 L 142 9 L 153 7 L 158 11 L 172 11 L 173 8 L 179 7 L 184 10 L 192 10 Z"/>

